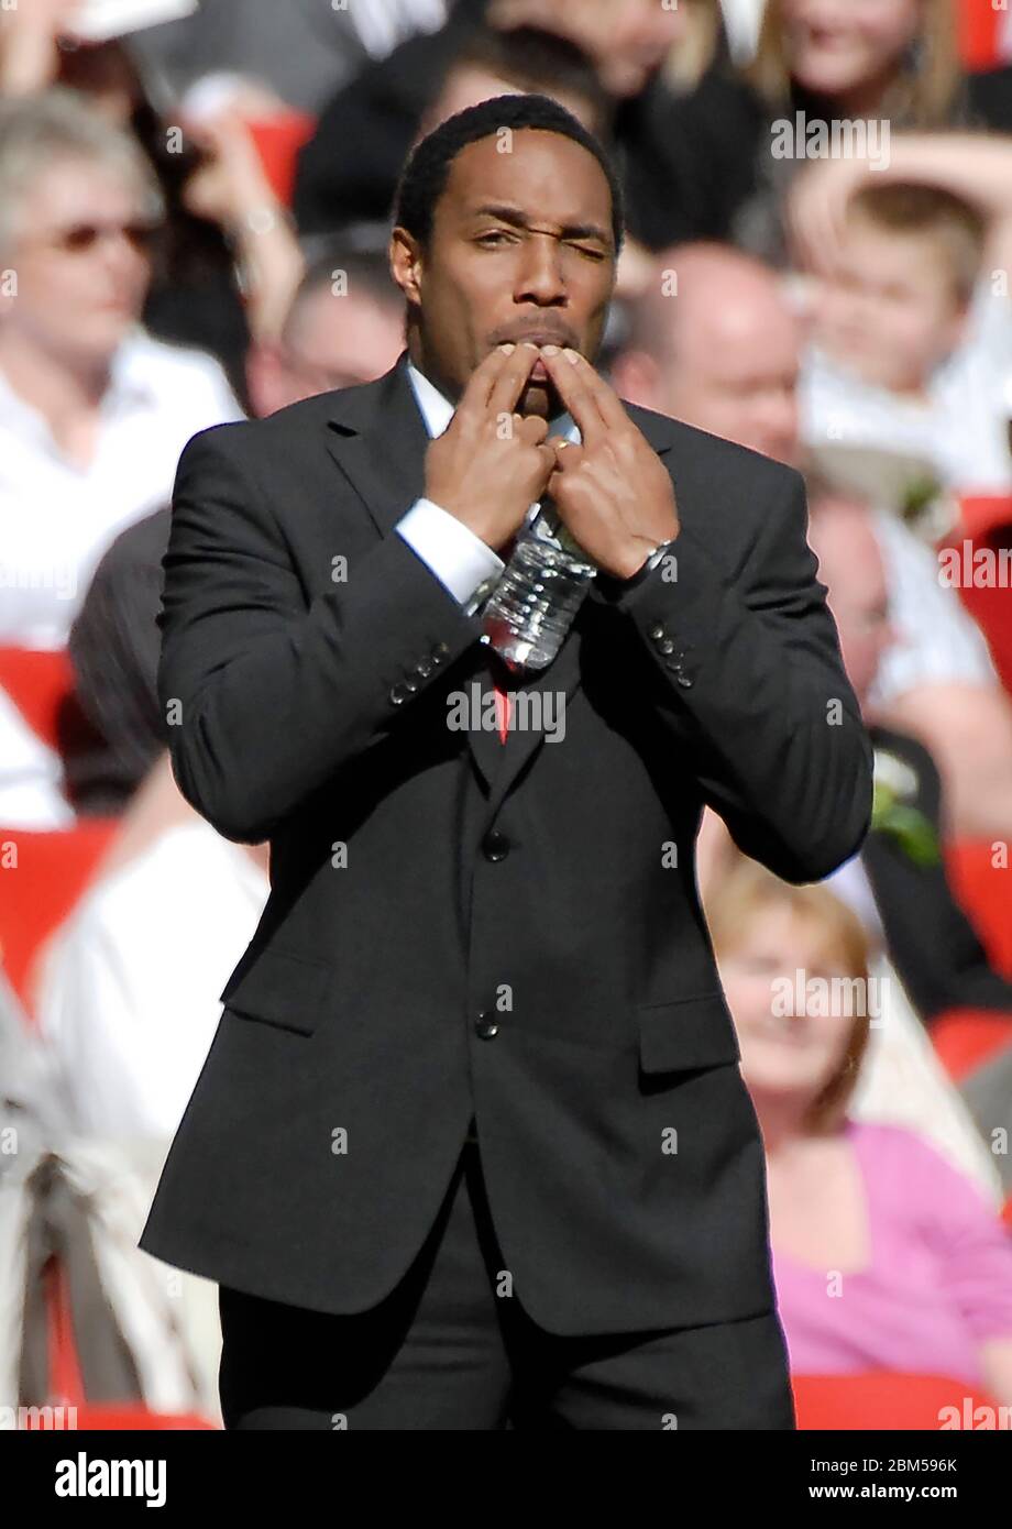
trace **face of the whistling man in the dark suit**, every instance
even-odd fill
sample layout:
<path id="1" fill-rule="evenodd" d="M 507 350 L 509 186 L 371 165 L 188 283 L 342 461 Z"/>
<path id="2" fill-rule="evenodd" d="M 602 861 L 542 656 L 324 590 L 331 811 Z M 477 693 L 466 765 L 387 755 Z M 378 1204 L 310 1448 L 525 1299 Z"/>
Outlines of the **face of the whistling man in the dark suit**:
<path id="1" fill-rule="evenodd" d="M 560 133 L 478 139 L 452 162 L 430 248 L 394 231 L 391 268 L 417 318 L 411 359 L 454 402 L 504 341 L 570 346 L 593 361 L 615 286 L 607 177 Z M 517 411 L 563 411 L 540 362 Z"/>

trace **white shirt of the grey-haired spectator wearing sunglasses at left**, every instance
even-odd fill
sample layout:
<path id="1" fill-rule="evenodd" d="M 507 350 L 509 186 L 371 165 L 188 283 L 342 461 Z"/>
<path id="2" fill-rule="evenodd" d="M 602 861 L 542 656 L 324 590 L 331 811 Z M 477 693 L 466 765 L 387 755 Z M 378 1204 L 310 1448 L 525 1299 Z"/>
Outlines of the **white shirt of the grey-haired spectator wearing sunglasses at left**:
<path id="1" fill-rule="evenodd" d="M 105 549 L 170 502 L 190 437 L 242 417 L 212 356 L 138 327 L 116 352 L 81 468 L 0 370 L 0 644 L 64 647 Z"/>

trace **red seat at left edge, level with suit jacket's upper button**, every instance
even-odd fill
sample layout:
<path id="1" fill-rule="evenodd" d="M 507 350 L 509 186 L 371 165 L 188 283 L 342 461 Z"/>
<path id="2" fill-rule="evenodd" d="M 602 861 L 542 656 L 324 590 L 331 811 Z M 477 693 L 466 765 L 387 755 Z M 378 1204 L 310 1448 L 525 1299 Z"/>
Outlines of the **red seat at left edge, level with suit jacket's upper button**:
<path id="1" fill-rule="evenodd" d="M 0 827 L 0 960 L 31 1014 L 31 965 L 73 908 L 109 849 L 118 818 L 32 833 Z"/>

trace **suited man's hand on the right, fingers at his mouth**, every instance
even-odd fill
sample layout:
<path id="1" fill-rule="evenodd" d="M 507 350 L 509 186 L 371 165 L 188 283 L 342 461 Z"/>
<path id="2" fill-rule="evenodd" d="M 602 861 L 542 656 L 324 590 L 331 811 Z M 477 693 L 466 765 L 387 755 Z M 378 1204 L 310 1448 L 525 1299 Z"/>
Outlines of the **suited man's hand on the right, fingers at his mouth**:
<path id="1" fill-rule="evenodd" d="M 671 479 L 618 393 L 584 356 L 555 346 L 541 347 L 541 356 L 582 437 L 582 445 L 547 442 L 558 462 L 547 492 L 598 567 L 631 578 L 657 543 L 679 534 Z"/>

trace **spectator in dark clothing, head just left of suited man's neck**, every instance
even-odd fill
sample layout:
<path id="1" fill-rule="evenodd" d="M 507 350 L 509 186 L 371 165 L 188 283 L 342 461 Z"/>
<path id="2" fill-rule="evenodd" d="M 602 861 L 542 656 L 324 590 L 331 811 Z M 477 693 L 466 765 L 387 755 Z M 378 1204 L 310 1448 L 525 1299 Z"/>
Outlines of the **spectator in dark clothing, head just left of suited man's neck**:
<path id="1" fill-rule="evenodd" d="M 278 341 L 264 339 L 249 353 L 255 413 L 370 382 L 402 347 L 404 301 L 387 261 L 332 249 L 303 278 Z M 70 628 L 76 699 L 90 735 L 66 758 L 66 784 L 84 813 L 122 812 L 167 745 L 156 616 L 168 526 L 165 506 L 116 538 Z"/>

